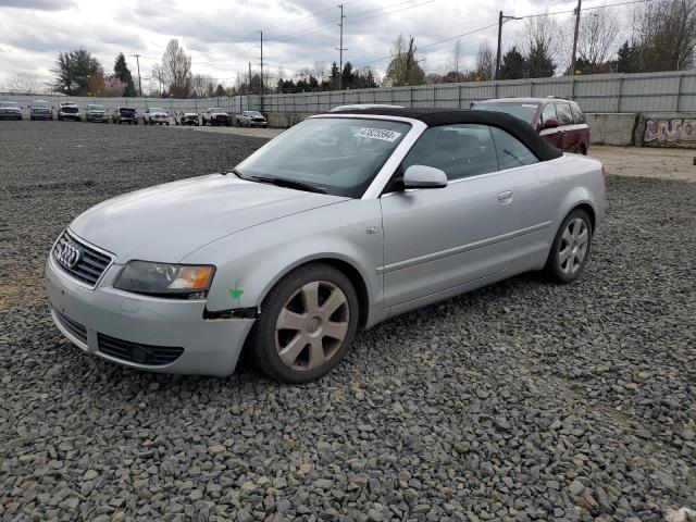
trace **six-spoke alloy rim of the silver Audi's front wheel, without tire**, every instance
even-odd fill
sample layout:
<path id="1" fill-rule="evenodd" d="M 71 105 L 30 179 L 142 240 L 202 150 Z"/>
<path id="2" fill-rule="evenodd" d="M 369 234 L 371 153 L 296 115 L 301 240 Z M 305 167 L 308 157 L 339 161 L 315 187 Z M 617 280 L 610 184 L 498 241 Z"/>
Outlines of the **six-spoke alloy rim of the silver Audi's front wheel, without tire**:
<path id="1" fill-rule="evenodd" d="M 344 291 L 328 281 L 298 288 L 275 323 L 275 349 L 283 363 L 308 372 L 326 364 L 339 351 L 350 321 Z"/>

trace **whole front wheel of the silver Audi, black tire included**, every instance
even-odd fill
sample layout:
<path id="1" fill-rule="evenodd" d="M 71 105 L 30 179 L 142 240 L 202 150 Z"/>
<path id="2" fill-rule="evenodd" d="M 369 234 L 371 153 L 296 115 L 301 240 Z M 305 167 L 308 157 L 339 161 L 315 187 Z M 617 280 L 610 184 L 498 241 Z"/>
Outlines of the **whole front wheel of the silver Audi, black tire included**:
<path id="1" fill-rule="evenodd" d="M 304 296 L 312 301 L 312 295 L 316 296 L 315 304 L 308 307 Z M 323 309 L 330 301 L 336 308 L 326 316 Z M 358 295 L 343 272 L 323 263 L 301 266 L 283 277 L 263 299 L 264 313 L 249 335 L 248 355 L 259 370 L 277 381 L 315 381 L 348 352 L 358 330 Z M 302 315 L 307 319 L 300 319 Z M 286 323 L 283 318 L 288 318 Z M 290 327 L 277 328 L 282 324 Z M 343 338 L 324 334 L 330 324 Z M 297 349 L 288 352 L 291 346 Z"/>

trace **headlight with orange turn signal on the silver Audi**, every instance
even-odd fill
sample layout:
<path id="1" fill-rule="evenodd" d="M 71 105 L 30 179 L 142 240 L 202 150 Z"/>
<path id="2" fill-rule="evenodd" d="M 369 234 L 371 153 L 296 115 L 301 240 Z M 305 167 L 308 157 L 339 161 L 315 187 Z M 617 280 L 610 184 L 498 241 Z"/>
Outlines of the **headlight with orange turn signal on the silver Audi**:
<path id="1" fill-rule="evenodd" d="M 210 289 L 215 268 L 209 264 L 169 264 L 130 261 L 114 288 L 161 297 L 202 299 Z"/>

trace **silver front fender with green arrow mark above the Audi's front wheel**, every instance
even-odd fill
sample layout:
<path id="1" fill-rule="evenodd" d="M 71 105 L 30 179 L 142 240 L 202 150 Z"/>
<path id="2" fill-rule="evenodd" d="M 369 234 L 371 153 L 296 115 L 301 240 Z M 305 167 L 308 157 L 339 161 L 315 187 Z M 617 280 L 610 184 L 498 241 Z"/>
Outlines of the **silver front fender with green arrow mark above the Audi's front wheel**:
<path id="1" fill-rule="evenodd" d="M 284 275 L 322 259 L 350 264 L 363 279 L 370 308 L 382 302 L 377 200 L 353 199 L 247 228 L 207 245 L 183 262 L 216 266 L 207 308 L 220 311 L 261 304 Z"/>

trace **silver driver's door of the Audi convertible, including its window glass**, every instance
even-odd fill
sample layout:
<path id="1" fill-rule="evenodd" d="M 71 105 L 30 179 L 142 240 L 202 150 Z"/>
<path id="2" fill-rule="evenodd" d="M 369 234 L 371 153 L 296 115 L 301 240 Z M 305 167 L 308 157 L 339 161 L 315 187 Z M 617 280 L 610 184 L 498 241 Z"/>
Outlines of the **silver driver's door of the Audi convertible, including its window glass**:
<path id="1" fill-rule="evenodd" d="M 426 129 L 399 172 L 414 164 L 445 171 L 448 186 L 395 190 L 381 198 L 387 308 L 408 308 L 504 273 L 506 236 L 517 226 L 514 183 L 498 172 L 487 126 Z"/>

